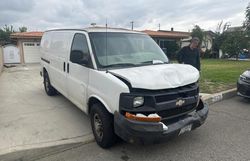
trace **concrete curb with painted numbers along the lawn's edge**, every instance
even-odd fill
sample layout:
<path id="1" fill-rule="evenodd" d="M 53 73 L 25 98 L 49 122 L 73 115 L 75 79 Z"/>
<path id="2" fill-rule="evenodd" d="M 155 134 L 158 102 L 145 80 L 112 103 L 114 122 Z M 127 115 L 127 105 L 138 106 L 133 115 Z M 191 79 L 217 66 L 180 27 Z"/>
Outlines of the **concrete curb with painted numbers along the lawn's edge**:
<path id="1" fill-rule="evenodd" d="M 233 88 L 233 89 L 230 89 L 230 90 L 226 90 L 226 91 L 222 91 L 222 92 L 219 92 L 219 93 L 215 93 L 215 94 L 211 94 L 211 95 L 208 95 L 208 96 L 201 97 L 201 99 L 204 102 L 211 105 L 211 104 L 222 101 L 224 99 L 231 98 L 231 97 L 236 96 L 236 95 L 237 95 L 237 89 Z"/>

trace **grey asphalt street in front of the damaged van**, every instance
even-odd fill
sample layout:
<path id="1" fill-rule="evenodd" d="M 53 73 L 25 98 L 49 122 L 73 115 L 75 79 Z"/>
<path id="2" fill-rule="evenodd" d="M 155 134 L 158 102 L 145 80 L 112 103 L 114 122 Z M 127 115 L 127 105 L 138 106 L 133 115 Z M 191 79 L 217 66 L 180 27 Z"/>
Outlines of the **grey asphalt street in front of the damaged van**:
<path id="1" fill-rule="evenodd" d="M 200 128 L 155 145 L 120 142 L 104 150 L 95 142 L 39 161 L 249 161 L 250 100 L 233 97 L 210 106 Z"/>

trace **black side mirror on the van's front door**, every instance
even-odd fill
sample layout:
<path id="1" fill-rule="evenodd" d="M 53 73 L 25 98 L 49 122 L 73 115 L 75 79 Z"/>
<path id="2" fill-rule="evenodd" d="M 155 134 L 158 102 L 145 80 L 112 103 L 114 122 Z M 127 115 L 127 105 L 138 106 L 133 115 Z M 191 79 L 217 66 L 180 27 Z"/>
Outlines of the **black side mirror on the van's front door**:
<path id="1" fill-rule="evenodd" d="M 70 53 L 70 61 L 81 65 L 87 65 L 89 62 L 89 54 L 80 50 L 73 50 Z"/>

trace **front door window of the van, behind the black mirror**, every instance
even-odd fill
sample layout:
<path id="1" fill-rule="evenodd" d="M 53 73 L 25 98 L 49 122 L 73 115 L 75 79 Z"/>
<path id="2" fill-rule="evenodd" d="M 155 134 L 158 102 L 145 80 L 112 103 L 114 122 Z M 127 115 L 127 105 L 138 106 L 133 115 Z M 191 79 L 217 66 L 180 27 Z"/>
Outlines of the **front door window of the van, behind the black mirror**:
<path id="1" fill-rule="evenodd" d="M 78 53 L 77 55 L 76 55 L 76 52 Z M 77 59 L 79 59 L 79 61 L 77 62 L 75 61 L 76 57 Z M 88 61 L 87 64 L 81 63 L 86 60 Z M 87 65 L 87 66 L 91 64 L 88 43 L 87 43 L 87 39 L 85 35 L 75 34 L 72 47 L 71 47 L 70 61 L 75 62 L 77 64 L 81 64 L 81 65 Z"/>

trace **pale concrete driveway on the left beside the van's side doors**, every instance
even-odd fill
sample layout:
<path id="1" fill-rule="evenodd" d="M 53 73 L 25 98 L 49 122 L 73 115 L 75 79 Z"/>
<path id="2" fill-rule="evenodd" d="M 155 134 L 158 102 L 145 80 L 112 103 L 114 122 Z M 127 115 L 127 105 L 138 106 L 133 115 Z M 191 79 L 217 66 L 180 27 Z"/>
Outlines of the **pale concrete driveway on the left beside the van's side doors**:
<path id="1" fill-rule="evenodd" d="M 89 118 L 62 95 L 47 96 L 39 70 L 19 66 L 0 76 L 0 155 L 93 140 Z"/>

